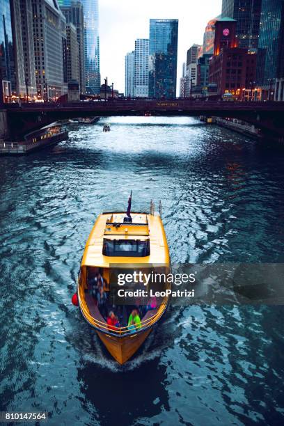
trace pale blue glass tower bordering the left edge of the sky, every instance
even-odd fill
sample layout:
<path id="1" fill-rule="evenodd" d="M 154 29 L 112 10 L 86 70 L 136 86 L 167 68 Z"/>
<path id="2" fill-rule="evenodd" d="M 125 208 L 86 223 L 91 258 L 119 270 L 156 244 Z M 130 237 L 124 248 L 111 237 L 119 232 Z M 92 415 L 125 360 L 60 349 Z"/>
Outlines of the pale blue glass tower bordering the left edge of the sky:
<path id="1" fill-rule="evenodd" d="M 84 50 L 86 93 L 100 93 L 99 1 L 81 0 L 84 10 Z M 71 6 L 72 0 L 59 0 L 60 6 Z"/>

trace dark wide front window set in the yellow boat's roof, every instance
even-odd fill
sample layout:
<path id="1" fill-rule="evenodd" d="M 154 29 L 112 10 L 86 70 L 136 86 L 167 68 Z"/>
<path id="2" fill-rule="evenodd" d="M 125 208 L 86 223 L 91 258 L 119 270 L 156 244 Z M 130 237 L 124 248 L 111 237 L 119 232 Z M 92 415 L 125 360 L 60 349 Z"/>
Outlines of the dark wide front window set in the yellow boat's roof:
<path id="1" fill-rule="evenodd" d="M 102 254 L 105 256 L 129 256 L 142 258 L 150 255 L 149 239 L 107 239 L 104 238 Z"/>

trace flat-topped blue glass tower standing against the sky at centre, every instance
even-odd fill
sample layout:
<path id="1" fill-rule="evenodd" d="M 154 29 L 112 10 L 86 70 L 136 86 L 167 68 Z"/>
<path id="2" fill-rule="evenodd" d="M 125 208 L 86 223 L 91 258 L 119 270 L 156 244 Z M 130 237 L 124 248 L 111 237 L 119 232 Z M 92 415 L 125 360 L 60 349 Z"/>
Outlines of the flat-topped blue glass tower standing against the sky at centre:
<path id="1" fill-rule="evenodd" d="M 150 19 L 149 96 L 175 97 L 178 19 Z"/>

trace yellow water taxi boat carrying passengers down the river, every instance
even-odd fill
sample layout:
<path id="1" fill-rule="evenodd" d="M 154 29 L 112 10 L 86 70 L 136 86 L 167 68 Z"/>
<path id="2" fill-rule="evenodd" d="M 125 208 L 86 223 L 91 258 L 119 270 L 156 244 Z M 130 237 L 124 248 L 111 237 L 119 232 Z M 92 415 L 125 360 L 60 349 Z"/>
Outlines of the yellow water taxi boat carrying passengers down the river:
<path id="1" fill-rule="evenodd" d="M 163 265 L 163 270 L 169 272 L 170 256 L 161 215 L 155 212 L 151 202 L 150 213 L 130 212 L 131 196 L 127 212 L 107 212 L 97 217 L 90 232 L 77 282 L 77 294 L 74 294 L 81 313 L 92 326 L 100 340 L 107 347 L 113 358 L 123 364 L 131 358 L 148 337 L 152 328 L 166 310 L 168 297 L 164 295 L 154 305 L 118 306 L 111 299 L 111 267 L 116 265 L 118 271 L 137 269 L 150 270 L 152 265 Z M 107 302 L 98 303 L 92 294 L 92 281 L 102 283 L 102 294 L 106 294 Z M 117 284 L 117 283 L 116 283 Z M 149 287 L 140 283 L 144 289 Z M 120 287 L 121 288 L 121 287 Z M 76 303 L 74 303 L 76 304 Z M 135 304 L 135 303 L 134 303 Z M 107 305 L 107 309 L 106 309 Z M 129 326 L 127 317 L 135 308 L 139 314 L 139 324 Z M 116 326 L 109 325 L 109 311 L 118 315 Z M 130 316 L 132 313 L 130 314 Z M 136 313 L 134 313 L 136 315 Z M 125 321 L 123 321 L 123 317 Z"/>

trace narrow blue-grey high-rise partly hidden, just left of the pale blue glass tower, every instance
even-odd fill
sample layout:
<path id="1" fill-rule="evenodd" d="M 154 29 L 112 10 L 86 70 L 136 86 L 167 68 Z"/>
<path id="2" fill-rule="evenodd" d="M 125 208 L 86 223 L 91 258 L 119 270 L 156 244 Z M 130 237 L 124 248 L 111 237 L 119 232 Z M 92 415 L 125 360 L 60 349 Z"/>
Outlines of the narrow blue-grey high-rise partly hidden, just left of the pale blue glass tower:
<path id="1" fill-rule="evenodd" d="M 80 1 L 70 1 L 70 6 L 62 6 L 61 10 L 66 18 L 67 24 L 72 23 L 77 30 L 77 42 L 79 45 L 79 72 L 80 91 L 86 93 L 86 72 L 85 72 L 85 42 L 84 42 L 84 11 Z"/>

